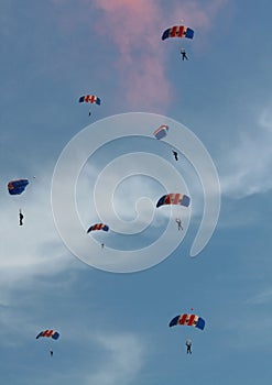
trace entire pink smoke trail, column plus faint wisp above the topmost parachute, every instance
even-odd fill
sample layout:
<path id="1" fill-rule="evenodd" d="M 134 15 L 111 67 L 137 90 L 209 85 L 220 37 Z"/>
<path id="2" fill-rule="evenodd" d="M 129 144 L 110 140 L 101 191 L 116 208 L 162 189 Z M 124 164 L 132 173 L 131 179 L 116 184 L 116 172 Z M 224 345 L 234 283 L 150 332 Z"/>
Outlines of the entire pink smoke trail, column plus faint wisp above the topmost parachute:
<path id="1" fill-rule="evenodd" d="M 118 48 L 117 70 L 122 74 L 122 88 L 130 108 L 157 109 L 171 103 L 171 84 L 165 65 L 164 29 L 179 23 L 207 33 L 213 19 L 227 0 L 171 1 L 164 10 L 156 0 L 93 0 L 101 11 L 96 33 Z M 166 12 L 165 12 L 166 10 Z M 166 13 L 166 14 L 165 14 Z M 177 16 L 178 15 L 178 16 Z M 105 28 L 107 25 L 108 28 Z M 109 35 L 110 30 L 110 35 Z"/>

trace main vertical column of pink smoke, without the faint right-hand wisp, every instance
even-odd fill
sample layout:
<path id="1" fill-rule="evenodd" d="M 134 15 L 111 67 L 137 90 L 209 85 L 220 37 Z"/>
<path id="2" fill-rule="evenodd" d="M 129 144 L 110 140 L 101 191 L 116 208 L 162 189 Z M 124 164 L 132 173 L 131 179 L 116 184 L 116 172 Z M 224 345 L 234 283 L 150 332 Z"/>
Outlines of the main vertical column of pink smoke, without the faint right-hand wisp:
<path id="1" fill-rule="evenodd" d="M 110 25 L 110 40 L 119 51 L 117 68 L 122 73 L 122 87 L 130 108 L 159 108 L 170 99 L 161 45 L 161 20 L 156 1 L 96 0 L 104 11 L 96 31 L 108 35 L 101 25 Z M 163 91 L 162 91 L 163 90 Z M 160 109 L 161 110 L 161 109 Z"/>

